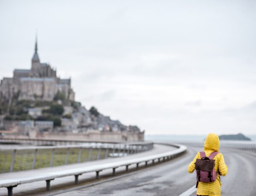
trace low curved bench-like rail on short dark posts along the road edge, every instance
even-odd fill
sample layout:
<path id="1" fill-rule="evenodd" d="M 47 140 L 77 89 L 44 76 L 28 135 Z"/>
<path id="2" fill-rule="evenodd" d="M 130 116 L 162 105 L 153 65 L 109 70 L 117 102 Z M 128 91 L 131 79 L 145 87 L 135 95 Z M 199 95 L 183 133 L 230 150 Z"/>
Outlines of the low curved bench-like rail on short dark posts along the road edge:
<path id="1" fill-rule="evenodd" d="M 165 144 L 169 145 L 169 144 Z M 145 162 L 145 166 L 148 165 L 148 161 L 152 161 L 152 164 L 154 164 L 155 160 L 158 160 L 158 162 L 165 161 L 166 159 L 172 159 L 176 156 L 179 156 L 180 154 L 184 153 L 186 151 L 186 146 L 183 145 L 172 145 L 178 147 L 177 150 L 172 150 L 170 152 L 166 153 L 160 153 L 157 155 L 152 156 L 146 156 L 141 157 L 137 159 L 129 159 L 129 160 L 123 160 L 123 161 L 114 161 L 111 163 L 105 163 L 105 164 L 97 164 L 90 167 L 82 167 L 82 168 L 76 168 L 76 169 L 70 169 L 70 170 L 64 170 L 64 171 L 52 171 L 48 173 L 43 173 L 41 175 L 37 176 L 28 176 L 26 178 L 13 178 L 8 180 L 0 180 L 0 187 L 6 187 L 8 189 L 8 196 L 12 196 L 12 189 L 13 187 L 16 187 L 19 184 L 25 184 L 25 183 L 31 183 L 31 182 L 38 182 L 45 180 L 46 181 L 46 190 L 50 190 L 50 182 L 54 180 L 55 178 L 61 178 L 65 176 L 75 176 L 75 184 L 78 184 L 78 178 L 80 175 L 84 173 L 89 172 L 96 172 L 96 179 L 99 179 L 99 172 L 106 169 L 112 169 L 113 175 L 115 175 L 115 170 L 118 167 L 125 166 L 126 171 L 128 171 L 128 167 L 131 164 L 136 164 L 137 169 L 139 168 L 139 164 L 142 162 Z"/>

